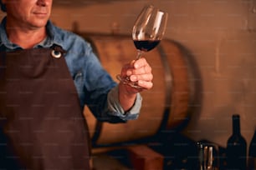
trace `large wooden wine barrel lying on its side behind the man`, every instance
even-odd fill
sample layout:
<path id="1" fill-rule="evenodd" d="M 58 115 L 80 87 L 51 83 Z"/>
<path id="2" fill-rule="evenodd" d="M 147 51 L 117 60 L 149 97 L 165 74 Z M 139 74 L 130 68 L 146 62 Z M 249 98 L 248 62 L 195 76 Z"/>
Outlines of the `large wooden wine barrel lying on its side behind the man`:
<path id="1" fill-rule="evenodd" d="M 130 36 L 91 35 L 84 38 L 91 42 L 103 67 L 115 80 L 121 67 L 136 57 L 136 47 Z M 143 56 L 151 64 L 154 87 L 141 92 L 143 106 L 138 119 L 117 124 L 97 122 L 89 109 L 84 109 L 95 144 L 147 138 L 161 130 L 177 128 L 187 121 L 194 87 L 189 81 L 189 62 L 182 49 L 170 40 L 162 40 L 158 47 Z"/>

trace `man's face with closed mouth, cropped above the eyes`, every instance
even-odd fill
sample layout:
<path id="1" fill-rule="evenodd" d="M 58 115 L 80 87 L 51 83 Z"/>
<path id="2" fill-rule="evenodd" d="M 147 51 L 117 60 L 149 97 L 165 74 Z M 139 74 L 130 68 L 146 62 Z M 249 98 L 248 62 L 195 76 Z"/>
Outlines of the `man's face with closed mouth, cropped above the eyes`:
<path id="1" fill-rule="evenodd" d="M 53 0 L 2 0 L 7 7 L 8 23 L 26 28 L 46 25 Z"/>

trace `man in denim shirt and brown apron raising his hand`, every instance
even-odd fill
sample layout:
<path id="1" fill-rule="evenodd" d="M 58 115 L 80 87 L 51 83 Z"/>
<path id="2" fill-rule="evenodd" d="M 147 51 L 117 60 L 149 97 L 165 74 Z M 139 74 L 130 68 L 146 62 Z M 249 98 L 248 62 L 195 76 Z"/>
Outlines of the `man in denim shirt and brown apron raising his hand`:
<path id="1" fill-rule="evenodd" d="M 89 169 L 84 104 L 100 121 L 126 122 L 152 87 L 145 58 L 120 72 L 141 88 L 116 84 L 88 42 L 49 21 L 52 1 L 1 1 L 0 169 Z"/>

